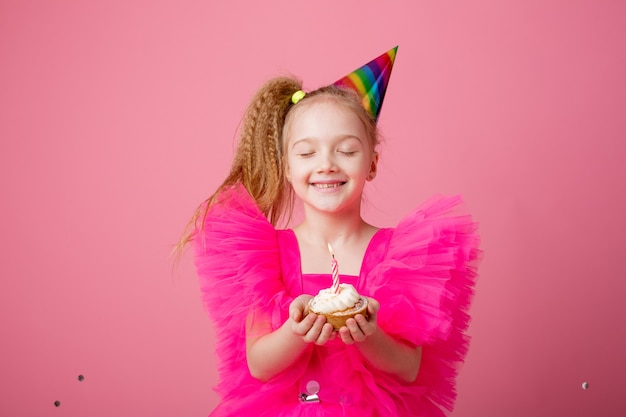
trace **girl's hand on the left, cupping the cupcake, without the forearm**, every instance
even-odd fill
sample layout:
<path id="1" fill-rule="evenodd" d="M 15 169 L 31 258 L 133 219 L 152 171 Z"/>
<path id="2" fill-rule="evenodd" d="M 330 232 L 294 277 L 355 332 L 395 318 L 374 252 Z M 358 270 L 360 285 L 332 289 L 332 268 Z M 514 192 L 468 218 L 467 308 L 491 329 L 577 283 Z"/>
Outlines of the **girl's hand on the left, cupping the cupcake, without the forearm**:
<path id="1" fill-rule="evenodd" d="M 307 343 L 323 345 L 335 337 L 335 332 L 333 326 L 326 323 L 326 317 L 308 312 L 307 305 L 311 298 L 308 294 L 302 294 L 289 304 L 291 331 Z"/>

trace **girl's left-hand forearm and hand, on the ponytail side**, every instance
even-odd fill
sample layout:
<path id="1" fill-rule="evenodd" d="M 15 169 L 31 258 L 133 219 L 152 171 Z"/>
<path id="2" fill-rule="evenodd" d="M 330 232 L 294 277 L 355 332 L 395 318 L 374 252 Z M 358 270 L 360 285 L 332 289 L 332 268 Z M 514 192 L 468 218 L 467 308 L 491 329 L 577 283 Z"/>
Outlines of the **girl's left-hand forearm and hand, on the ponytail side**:
<path id="1" fill-rule="evenodd" d="M 307 314 L 310 295 L 297 297 L 289 306 L 289 318 L 275 331 L 269 320 L 250 315 L 246 323 L 246 357 L 250 374 L 268 381 L 293 365 L 310 343 L 324 344 L 334 337 L 324 316 Z"/>

